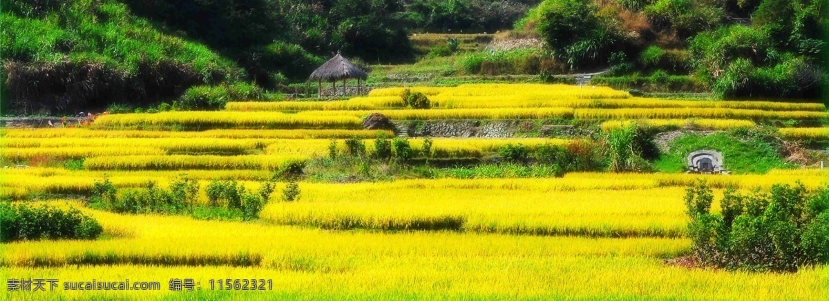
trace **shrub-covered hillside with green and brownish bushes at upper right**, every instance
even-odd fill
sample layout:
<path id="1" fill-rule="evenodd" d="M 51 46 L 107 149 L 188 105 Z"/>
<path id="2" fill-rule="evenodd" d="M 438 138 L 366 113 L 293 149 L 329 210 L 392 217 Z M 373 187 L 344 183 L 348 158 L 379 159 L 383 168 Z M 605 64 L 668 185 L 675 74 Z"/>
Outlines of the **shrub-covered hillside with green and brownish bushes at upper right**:
<path id="1" fill-rule="evenodd" d="M 545 0 L 515 28 L 571 69 L 608 66 L 617 79 L 605 84 L 684 80 L 724 98 L 817 98 L 827 10 L 822 0 Z"/>

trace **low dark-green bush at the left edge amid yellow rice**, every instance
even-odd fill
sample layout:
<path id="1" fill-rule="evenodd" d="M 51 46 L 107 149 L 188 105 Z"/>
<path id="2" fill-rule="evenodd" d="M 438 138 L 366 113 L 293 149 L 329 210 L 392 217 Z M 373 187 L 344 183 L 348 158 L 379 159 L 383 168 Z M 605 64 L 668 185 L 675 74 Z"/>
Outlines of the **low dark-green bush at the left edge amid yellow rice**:
<path id="1" fill-rule="evenodd" d="M 0 202 L 0 241 L 95 239 L 104 228 L 78 209 Z"/>

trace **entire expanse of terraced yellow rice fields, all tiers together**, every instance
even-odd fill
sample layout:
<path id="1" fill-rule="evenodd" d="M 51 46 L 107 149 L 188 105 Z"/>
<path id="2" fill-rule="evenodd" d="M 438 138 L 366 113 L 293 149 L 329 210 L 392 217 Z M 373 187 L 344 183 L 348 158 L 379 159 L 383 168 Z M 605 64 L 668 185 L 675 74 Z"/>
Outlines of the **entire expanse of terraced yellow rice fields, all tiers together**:
<path id="1" fill-rule="evenodd" d="M 340 155 L 352 137 L 374 150 L 375 138 L 395 132 L 361 129 L 362 118 L 373 112 L 392 121 L 521 119 L 533 122 L 516 124 L 539 126 L 573 119 L 589 123 L 597 135 L 629 122 L 658 130 L 731 130 L 799 120 L 801 125 L 781 128 L 780 134 L 829 140 L 827 127 L 821 127 L 827 111 L 817 103 L 638 98 L 606 87 L 560 84 L 463 84 L 411 88 L 433 104 L 414 110 L 401 102 L 402 90 L 377 88 L 364 97 L 326 102 L 233 102 L 217 112 L 112 114 L 85 128 L 0 129 L 0 198 L 79 208 L 104 227 L 95 241 L 2 243 L 0 285 L 28 278 L 161 283 L 156 291 L 3 290 L 0 298 L 817 301 L 829 296 L 827 265 L 777 274 L 689 268 L 672 260 L 691 253 L 683 200 L 688 184 L 704 179 L 718 200 L 728 186 L 749 193 L 799 182 L 814 189 L 829 183 L 829 169 L 729 175 L 595 171 L 524 179 L 308 176 L 298 181 L 301 195 L 293 202 L 282 201 L 286 183 L 276 183 L 259 219 L 250 222 L 116 214 L 85 203 L 104 178 L 120 189 L 148 181 L 166 189 L 187 174 L 201 187 L 201 203 L 208 202 L 205 188 L 215 179 L 237 180 L 255 191 L 287 163 L 327 162 L 316 159 L 328 156 L 332 141 Z M 429 162 L 489 160 L 508 144 L 530 150 L 602 147 L 591 136 L 541 138 L 527 132 L 526 138 L 432 138 Z M 423 137 L 408 141 L 420 155 Z M 391 165 L 395 162 L 384 162 L 378 170 Z M 718 201 L 712 208 L 719 210 Z M 201 289 L 170 291 L 172 278 L 195 279 Z M 227 278 L 270 279 L 273 289 L 210 288 L 211 279 Z"/>

